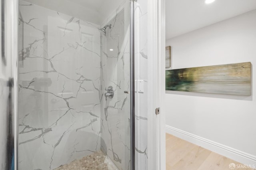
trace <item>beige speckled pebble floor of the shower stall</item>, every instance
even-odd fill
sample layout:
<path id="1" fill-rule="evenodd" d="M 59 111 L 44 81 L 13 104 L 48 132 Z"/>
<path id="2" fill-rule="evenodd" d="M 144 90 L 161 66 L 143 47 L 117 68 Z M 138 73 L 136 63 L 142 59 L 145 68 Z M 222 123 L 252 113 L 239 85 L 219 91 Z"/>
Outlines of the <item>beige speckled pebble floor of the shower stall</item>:
<path id="1" fill-rule="evenodd" d="M 114 163 L 100 150 L 80 160 L 62 165 L 55 170 L 118 170 Z"/>

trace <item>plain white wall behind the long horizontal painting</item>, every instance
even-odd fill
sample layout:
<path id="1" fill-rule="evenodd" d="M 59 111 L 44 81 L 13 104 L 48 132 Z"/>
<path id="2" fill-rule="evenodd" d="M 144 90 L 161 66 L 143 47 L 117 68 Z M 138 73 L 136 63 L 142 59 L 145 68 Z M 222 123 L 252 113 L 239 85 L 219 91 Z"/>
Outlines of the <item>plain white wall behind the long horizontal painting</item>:
<path id="1" fill-rule="evenodd" d="M 168 31 L 168 30 L 166 30 Z M 171 69 L 252 63 L 252 95 L 166 91 L 166 125 L 256 155 L 256 10 L 166 41 Z"/>

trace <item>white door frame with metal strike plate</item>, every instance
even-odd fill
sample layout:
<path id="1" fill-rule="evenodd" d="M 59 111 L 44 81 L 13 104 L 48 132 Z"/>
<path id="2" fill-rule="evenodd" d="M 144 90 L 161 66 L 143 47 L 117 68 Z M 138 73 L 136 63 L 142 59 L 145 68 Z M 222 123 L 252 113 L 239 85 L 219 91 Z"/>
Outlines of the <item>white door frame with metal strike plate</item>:
<path id="1" fill-rule="evenodd" d="M 148 68 L 148 169 L 165 170 L 165 0 L 148 0 Z"/>

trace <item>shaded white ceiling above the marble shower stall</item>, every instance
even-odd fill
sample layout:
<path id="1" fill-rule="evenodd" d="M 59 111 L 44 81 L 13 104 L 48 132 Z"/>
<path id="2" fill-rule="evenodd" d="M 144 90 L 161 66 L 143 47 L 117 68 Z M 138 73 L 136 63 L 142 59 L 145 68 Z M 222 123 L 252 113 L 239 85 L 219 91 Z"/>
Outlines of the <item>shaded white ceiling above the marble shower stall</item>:
<path id="1" fill-rule="evenodd" d="M 69 16 L 102 24 L 123 0 L 24 0 Z"/>

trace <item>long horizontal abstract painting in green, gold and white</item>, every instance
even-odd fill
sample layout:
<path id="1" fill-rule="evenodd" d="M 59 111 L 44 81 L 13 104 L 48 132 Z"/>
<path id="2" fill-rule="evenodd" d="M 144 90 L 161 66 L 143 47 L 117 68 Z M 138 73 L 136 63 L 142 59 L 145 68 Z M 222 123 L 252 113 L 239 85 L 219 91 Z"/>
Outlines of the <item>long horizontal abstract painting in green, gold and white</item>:
<path id="1" fill-rule="evenodd" d="M 166 90 L 251 95 L 251 63 L 166 70 Z"/>

